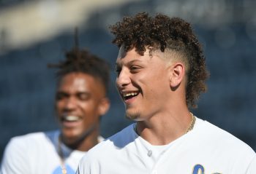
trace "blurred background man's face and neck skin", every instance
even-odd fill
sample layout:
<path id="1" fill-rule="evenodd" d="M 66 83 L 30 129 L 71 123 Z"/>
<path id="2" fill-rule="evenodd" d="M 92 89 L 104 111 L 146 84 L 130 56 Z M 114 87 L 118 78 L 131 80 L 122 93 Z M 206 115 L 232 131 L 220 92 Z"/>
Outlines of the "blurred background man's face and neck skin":
<path id="1" fill-rule="evenodd" d="M 56 112 L 67 146 L 88 151 L 98 143 L 99 119 L 110 106 L 105 95 L 102 82 L 89 74 L 70 73 L 60 79 Z"/>

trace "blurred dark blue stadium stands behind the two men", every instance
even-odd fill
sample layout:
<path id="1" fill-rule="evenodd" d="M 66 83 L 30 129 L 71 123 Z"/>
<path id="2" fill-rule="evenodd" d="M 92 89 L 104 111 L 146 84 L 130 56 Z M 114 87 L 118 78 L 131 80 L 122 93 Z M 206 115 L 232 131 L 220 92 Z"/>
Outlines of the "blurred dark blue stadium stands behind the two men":
<path id="1" fill-rule="evenodd" d="M 73 47 L 76 26 L 80 47 L 113 69 L 112 104 L 102 119 L 102 135 L 130 123 L 114 86 L 118 49 L 108 25 L 143 11 L 192 23 L 211 72 L 194 114 L 256 150 L 255 8 L 254 0 L 0 0 L 0 159 L 12 136 L 58 127 L 55 74 L 47 64 L 62 60 Z"/>

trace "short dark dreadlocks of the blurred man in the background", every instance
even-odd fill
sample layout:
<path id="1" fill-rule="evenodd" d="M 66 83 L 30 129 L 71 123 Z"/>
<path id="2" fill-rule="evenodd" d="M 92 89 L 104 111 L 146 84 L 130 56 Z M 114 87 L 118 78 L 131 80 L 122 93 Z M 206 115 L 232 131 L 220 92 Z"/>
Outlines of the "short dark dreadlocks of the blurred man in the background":
<path id="1" fill-rule="evenodd" d="M 58 68 L 56 71 L 58 81 L 69 73 L 81 72 L 99 79 L 105 87 L 105 91 L 108 92 L 110 66 L 105 60 L 90 54 L 87 50 L 80 50 L 77 39 L 75 47 L 66 52 L 65 58 L 64 61 L 57 64 L 48 64 L 50 68 Z"/>

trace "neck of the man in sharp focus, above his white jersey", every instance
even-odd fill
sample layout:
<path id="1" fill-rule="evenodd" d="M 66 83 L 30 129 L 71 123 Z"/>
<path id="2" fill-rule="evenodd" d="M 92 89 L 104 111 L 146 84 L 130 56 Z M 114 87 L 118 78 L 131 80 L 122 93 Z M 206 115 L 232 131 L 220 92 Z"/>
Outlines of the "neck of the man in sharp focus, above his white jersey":
<path id="1" fill-rule="evenodd" d="M 152 145 L 165 145 L 187 133 L 192 118 L 188 110 L 151 116 L 137 123 L 138 134 Z"/>

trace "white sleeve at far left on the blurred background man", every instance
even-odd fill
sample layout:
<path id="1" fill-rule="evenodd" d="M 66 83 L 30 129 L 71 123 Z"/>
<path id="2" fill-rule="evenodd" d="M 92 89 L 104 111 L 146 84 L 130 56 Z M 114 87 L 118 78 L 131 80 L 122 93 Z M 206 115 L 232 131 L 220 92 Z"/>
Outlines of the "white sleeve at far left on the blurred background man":
<path id="1" fill-rule="evenodd" d="M 29 174 L 26 164 L 26 144 L 12 138 L 4 150 L 4 156 L 1 162 L 1 174 Z"/>

